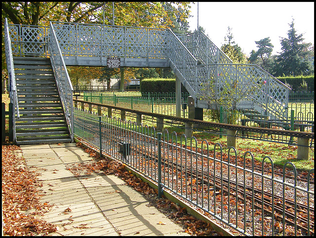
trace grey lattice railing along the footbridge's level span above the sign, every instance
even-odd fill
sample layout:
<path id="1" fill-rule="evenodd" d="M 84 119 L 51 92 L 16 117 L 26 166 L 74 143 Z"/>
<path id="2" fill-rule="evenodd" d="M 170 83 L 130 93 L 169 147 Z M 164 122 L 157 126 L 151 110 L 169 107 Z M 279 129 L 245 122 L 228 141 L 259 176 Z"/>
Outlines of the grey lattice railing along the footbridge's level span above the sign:
<path id="1" fill-rule="evenodd" d="M 52 22 L 64 56 L 168 58 L 168 31 Z"/>

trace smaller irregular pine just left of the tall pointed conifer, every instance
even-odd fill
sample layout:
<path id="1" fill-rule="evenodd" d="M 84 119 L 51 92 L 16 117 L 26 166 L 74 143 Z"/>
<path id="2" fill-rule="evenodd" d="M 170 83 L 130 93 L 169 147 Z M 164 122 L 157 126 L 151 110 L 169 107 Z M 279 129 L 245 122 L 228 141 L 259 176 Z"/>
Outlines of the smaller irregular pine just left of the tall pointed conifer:
<path id="1" fill-rule="evenodd" d="M 255 41 L 259 49 L 257 51 L 252 50 L 249 57 L 250 63 L 257 64 L 268 72 L 271 72 L 271 67 L 273 65 L 271 54 L 274 45 L 270 41 L 270 37 Z"/>

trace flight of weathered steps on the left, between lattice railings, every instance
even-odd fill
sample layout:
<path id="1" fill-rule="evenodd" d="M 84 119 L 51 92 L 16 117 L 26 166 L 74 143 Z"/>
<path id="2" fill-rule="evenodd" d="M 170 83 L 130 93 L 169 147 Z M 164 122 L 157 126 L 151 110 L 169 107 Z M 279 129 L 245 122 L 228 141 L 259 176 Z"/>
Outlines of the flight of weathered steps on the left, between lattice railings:
<path id="1" fill-rule="evenodd" d="M 13 57 L 20 118 L 16 144 L 71 142 L 49 58 Z"/>

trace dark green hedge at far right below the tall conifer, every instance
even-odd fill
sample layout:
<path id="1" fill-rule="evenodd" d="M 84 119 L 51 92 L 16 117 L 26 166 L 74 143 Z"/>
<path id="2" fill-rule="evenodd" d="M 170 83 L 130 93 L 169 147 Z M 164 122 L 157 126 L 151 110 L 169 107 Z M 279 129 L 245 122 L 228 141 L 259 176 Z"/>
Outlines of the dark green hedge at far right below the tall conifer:
<path id="1" fill-rule="evenodd" d="M 304 84 L 303 80 L 307 83 L 307 91 L 314 91 L 314 75 L 310 76 L 295 76 L 295 77 L 277 77 L 283 83 L 290 84 L 293 92 L 303 91 L 301 87 Z"/>

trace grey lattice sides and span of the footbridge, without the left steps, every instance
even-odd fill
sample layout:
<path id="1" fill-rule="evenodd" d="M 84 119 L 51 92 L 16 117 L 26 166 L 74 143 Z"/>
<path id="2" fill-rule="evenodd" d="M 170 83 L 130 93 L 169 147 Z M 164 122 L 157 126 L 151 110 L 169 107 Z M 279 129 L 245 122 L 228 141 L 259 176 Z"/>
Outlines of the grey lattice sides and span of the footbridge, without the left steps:
<path id="1" fill-rule="evenodd" d="M 66 67 L 105 67 L 108 57 L 120 58 L 121 67 L 171 68 L 177 88 L 180 82 L 186 87 L 196 108 L 214 108 L 198 96 L 212 79 L 215 97 L 220 97 L 227 82 L 234 85 L 236 95 L 246 95 L 237 108 L 258 110 L 274 118 L 287 116 L 289 87 L 257 65 L 233 64 L 202 32 L 175 35 L 169 29 L 62 22 L 50 22 L 49 26 L 13 25 L 7 19 L 4 32 L 16 117 L 21 113 L 18 96 L 22 90 L 17 89 L 14 61 L 23 57 L 49 58 L 72 141 L 73 86 Z"/>

